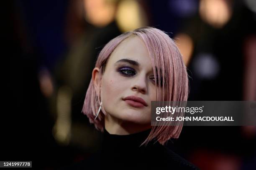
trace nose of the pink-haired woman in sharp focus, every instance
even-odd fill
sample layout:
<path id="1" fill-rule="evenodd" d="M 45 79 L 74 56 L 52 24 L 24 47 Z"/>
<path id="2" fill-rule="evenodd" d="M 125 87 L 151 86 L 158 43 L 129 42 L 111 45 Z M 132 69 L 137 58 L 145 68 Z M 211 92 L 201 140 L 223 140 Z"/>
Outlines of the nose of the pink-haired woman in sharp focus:
<path id="1" fill-rule="evenodd" d="M 141 92 L 142 94 L 146 94 L 148 92 L 146 76 L 138 75 L 134 79 L 134 82 L 133 82 L 133 85 L 132 85 L 132 90 Z"/>

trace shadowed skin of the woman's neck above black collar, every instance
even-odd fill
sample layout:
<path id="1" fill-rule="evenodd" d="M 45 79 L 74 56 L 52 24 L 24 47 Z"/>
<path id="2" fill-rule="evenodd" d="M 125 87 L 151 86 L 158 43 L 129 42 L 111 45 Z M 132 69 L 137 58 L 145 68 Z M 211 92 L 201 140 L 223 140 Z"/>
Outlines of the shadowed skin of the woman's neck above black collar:
<path id="1" fill-rule="evenodd" d="M 119 120 L 111 115 L 105 116 L 105 130 L 110 134 L 129 135 L 139 133 L 151 128 L 151 124 L 138 124 L 128 121 Z"/>

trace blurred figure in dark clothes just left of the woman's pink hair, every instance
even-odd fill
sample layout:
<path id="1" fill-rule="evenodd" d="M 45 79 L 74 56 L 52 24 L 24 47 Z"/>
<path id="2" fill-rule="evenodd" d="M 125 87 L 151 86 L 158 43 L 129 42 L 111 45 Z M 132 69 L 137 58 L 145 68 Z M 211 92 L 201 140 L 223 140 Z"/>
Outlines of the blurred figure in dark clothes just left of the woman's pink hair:
<path id="1" fill-rule="evenodd" d="M 93 132 L 79 112 L 98 53 L 121 33 L 115 21 L 117 5 L 118 0 L 69 2 L 65 30 L 69 49 L 54 69 L 55 90 L 50 104 L 56 119 L 54 138 L 60 145 L 83 148 L 88 155 L 97 150 L 95 141 L 99 141 L 100 135 Z M 81 157 L 82 152 L 75 155 L 75 160 Z"/>

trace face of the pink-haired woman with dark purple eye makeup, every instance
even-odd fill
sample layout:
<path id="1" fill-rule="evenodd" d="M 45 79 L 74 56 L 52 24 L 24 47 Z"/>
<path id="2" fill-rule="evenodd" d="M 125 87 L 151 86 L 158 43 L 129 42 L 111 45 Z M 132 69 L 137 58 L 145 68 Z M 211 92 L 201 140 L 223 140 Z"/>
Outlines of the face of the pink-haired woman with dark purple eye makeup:
<path id="1" fill-rule="evenodd" d="M 150 124 L 156 85 L 151 58 L 138 36 L 123 40 L 111 54 L 102 77 L 101 93 L 102 105 L 113 119 Z M 128 96 L 141 97 L 146 103 L 125 100 Z"/>

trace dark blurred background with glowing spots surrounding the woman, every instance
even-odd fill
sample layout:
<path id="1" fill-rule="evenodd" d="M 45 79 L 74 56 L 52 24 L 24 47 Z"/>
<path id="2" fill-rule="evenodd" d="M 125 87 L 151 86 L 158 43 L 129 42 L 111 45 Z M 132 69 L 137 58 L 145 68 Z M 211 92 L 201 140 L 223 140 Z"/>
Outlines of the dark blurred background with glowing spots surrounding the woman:
<path id="1" fill-rule="evenodd" d="M 189 100 L 256 100 L 255 0 L 12 0 L 0 16 L 0 160 L 52 170 L 97 152 L 102 135 L 81 112 L 92 69 L 142 26 L 177 42 Z M 256 169 L 256 127 L 184 126 L 168 146 L 202 170 Z"/>

